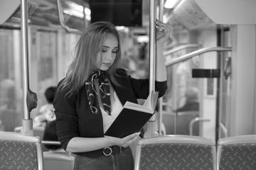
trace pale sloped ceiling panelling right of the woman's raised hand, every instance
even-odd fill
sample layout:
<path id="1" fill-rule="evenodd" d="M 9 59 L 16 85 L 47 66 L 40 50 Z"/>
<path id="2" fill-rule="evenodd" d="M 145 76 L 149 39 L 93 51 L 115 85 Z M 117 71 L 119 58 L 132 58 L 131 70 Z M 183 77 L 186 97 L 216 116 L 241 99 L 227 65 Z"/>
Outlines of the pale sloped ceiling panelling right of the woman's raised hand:
<path id="1" fill-rule="evenodd" d="M 178 0 L 176 6 L 165 13 L 165 17 L 174 28 L 188 30 L 208 28 L 217 24 L 254 25 L 255 6 L 255 0 Z"/>

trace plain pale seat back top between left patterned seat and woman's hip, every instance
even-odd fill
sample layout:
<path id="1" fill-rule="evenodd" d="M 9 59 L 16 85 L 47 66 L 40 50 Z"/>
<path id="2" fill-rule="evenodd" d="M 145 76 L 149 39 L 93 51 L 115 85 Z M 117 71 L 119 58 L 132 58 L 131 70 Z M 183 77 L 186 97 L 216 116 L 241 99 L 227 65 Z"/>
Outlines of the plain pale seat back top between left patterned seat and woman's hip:
<path id="1" fill-rule="evenodd" d="M 44 170 L 72 170 L 75 157 L 66 152 L 43 152 Z"/>

